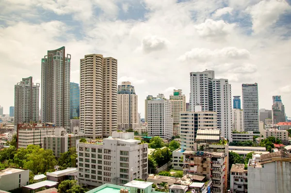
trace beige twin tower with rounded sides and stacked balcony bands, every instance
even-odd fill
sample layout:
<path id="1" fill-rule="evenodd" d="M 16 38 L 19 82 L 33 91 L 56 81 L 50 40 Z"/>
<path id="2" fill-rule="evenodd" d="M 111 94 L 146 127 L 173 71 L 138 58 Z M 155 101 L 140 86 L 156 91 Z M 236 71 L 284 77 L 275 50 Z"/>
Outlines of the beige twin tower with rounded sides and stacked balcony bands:
<path id="1" fill-rule="evenodd" d="M 80 130 L 93 139 L 117 129 L 117 60 L 100 54 L 80 60 Z"/>

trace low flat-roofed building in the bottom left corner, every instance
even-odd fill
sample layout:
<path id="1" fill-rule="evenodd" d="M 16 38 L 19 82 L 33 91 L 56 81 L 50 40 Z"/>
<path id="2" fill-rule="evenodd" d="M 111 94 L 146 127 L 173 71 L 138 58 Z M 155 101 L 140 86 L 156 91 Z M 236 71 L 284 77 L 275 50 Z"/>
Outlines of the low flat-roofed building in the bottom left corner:
<path id="1" fill-rule="evenodd" d="M 29 184 L 29 170 L 6 168 L 0 171 L 0 190 L 12 191 Z"/>

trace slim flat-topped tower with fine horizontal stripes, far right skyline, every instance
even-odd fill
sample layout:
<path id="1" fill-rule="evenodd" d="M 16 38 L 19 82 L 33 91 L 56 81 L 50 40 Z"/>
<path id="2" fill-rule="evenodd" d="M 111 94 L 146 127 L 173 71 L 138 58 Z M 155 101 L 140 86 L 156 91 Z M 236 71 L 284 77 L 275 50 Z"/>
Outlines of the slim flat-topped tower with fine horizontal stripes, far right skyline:
<path id="1" fill-rule="evenodd" d="M 259 131 L 258 84 L 242 84 L 243 130 Z"/>

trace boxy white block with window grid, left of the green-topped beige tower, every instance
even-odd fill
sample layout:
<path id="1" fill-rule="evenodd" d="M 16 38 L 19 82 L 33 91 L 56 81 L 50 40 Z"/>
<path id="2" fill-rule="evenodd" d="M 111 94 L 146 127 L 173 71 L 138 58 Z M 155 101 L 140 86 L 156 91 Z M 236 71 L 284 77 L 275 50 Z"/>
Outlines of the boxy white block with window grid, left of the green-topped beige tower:
<path id="1" fill-rule="evenodd" d="M 165 98 L 147 100 L 148 136 L 171 139 L 173 136 L 173 119 L 171 102 Z"/>

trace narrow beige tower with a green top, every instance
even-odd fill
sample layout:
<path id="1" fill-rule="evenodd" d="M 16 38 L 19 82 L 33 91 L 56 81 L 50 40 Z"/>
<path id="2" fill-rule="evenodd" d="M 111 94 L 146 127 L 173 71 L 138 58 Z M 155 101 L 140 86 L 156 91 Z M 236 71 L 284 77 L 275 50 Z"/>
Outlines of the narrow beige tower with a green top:
<path id="1" fill-rule="evenodd" d="M 186 111 L 186 96 L 182 94 L 182 90 L 174 90 L 170 95 L 171 112 L 173 118 L 173 135 L 179 135 L 180 112 Z"/>

